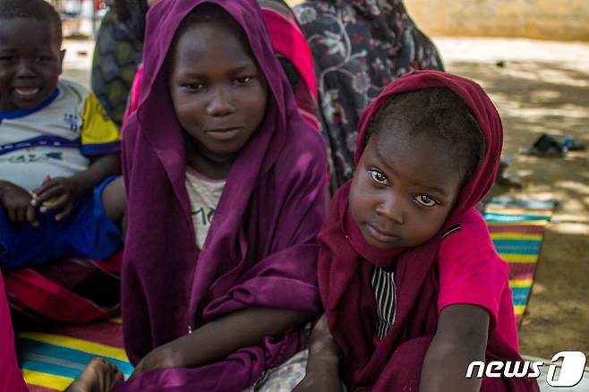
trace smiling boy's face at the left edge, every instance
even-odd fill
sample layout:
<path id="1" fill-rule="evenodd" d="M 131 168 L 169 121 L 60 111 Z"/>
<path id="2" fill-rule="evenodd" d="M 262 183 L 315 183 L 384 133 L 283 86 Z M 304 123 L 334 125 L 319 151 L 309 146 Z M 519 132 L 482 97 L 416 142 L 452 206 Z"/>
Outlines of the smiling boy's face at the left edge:
<path id="1" fill-rule="evenodd" d="M 48 21 L 0 21 L 0 110 L 31 109 L 57 86 L 64 52 Z"/>

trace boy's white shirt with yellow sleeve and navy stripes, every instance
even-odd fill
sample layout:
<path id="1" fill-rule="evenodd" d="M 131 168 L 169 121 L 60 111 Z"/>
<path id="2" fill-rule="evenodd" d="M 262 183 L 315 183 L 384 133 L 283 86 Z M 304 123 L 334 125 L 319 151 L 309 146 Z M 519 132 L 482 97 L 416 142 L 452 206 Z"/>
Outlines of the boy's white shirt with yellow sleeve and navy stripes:
<path id="1" fill-rule="evenodd" d="M 47 175 L 71 176 L 91 156 L 118 153 L 120 140 L 94 94 L 60 80 L 38 107 L 0 112 L 0 178 L 30 191 Z"/>

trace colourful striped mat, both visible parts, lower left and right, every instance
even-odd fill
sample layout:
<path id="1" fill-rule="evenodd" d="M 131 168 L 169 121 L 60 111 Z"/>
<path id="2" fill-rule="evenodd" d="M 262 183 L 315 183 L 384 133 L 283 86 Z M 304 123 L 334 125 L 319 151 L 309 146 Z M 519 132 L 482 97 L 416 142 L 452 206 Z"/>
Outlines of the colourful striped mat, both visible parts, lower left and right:
<path id="1" fill-rule="evenodd" d="M 518 322 L 534 282 L 544 227 L 551 219 L 552 201 L 492 199 L 483 216 L 500 256 L 511 268 L 509 285 L 514 293 Z M 132 365 L 124 354 L 121 320 L 87 326 L 60 327 L 20 334 L 22 372 L 30 390 L 64 390 L 94 356 L 102 356 L 128 377 Z"/>

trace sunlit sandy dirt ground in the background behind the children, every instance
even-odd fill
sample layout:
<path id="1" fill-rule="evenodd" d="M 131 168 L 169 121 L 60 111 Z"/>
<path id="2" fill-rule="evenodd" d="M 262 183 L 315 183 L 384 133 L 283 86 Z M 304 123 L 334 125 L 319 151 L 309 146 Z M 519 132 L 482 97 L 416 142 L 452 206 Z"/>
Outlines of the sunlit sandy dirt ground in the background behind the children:
<path id="1" fill-rule="evenodd" d="M 536 281 L 520 330 L 522 353 L 543 358 L 563 350 L 589 354 L 589 152 L 534 158 L 519 147 L 550 132 L 589 145 L 589 44 L 523 39 L 435 39 L 448 72 L 474 79 L 491 94 L 505 128 L 508 173 L 521 190 L 494 195 L 557 200 L 546 228 Z M 65 41 L 64 76 L 89 85 L 91 44 Z M 497 62 L 504 62 L 499 67 Z"/>

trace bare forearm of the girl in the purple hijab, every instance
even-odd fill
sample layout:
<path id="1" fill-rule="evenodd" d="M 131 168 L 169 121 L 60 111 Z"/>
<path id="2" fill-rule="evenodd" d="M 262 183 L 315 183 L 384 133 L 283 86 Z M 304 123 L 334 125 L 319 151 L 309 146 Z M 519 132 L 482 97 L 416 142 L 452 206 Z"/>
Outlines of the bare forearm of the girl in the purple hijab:
<path id="1" fill-rule="evenodd" d="M 247 308 L 210 321 L 192 334 L 161 345 L 147 354 L 133 376 L 143 371 L 194 368 L 225 359 L 243 347 L 258 345 L 264 337 L 278 337 L 312 320 L 306 311 Z"/>

